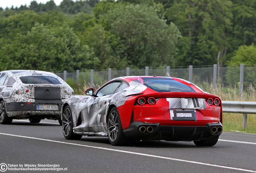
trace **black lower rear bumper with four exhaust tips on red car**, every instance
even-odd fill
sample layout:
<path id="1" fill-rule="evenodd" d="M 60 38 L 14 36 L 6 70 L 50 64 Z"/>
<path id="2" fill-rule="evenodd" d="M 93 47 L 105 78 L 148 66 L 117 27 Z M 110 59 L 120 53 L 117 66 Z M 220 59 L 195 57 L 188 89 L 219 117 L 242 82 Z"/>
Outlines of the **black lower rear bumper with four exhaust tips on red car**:
<path id="1" fill-rule="evenodd" d="M 130 139 L 166 141 L 206 140 L 218 137 L 221 133 L 221 123 L 207 123 L 205 126 L 160 126 L 159 123 L 133 121 L 130 127 L 124 130 L 124 135 Z"/>

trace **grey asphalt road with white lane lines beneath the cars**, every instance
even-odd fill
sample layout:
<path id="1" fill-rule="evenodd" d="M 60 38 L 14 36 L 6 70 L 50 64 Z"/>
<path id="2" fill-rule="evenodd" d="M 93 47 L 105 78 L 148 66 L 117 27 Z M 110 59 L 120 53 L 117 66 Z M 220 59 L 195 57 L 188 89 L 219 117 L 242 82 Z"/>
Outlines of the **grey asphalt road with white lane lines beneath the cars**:
<path id="1" fill-rule="evenodd" d="M 31 170 L 22 170 L 25 168 Z M 256 135 L 223 133 L 213 147 L 168 141 L 142 141 L 116 147 L 109 144 L 107 137 L 66 140 L 58 121 L 32 124 L 28 120 L 13 120 L 11 125 L 0 125 L 1 171 L 256 173 Z"/>

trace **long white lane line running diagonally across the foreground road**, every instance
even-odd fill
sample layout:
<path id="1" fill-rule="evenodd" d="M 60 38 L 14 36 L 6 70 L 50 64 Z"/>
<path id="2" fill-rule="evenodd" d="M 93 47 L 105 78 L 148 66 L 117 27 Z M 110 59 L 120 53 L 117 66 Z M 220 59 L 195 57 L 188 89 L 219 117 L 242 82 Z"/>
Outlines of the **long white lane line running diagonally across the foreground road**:
<path id="1" fill-rule="evenodd" d="M 148 157 L 155 157 L 155 158 L 159 158 L 159 159 L 181 161 L 181 162 L 186 162 L 186 163 L 194 163 L 194 164 L 198 164 L 198 165 L 206 165 L 206 166 L 213 166 L 213 167 L 219 167 L 219 168 L 225 168 L 225 169 L 233 169 L 233 170 L 237 170 L 237 171 L 246 171 L 246 172 L 256 173 L 256 171 L 248 170 L 248 169 L 235 168 L 235 167 L 226 167 L 226 166 L 221 166 L 221 165 L 213 165 L 213 164 L 209 164 L 209 163 L 202 163 L 202 162 L 196 162 L 196 161 L 188 161 L 188 160 L 183 160 L 183 159 L 175 159 L 175 158 L 171 158 L 171 157 L 162 157 L 162 156 L 149 155 L 149 154 L 144 154 L 144 153 L 135 153 L 135 152 L 131 152 L 131 151 L 124 151 L 124 150 L 118 150 L 118 149 L 109 149 L 109 148 L 95 147 L 95 146 L 90 146 L 90 145 L 82 145 L 82 144 L 76 144 L 76 143 L 67 143 L 67 142 L 62 142 L 62 141 L 54 141 L 54 140 L 50 140 L 50 139 L 41 139 L 41 138 L 27 137 L 27 136 L 21 136 L 21 135 L 12 135 L 12 134 L 8 134 L 8 133 L 0 133 L 0 135 L 7 135 L 7 136 L 13 136 L 13 137 L 23 137 L 23 138 L 28 138 L 28 139 L 36 139 L 36 140 L 41 140 L 41 141 L 63 143 L 63 144 L 68 144 L 68 145 L 76 145 L 76 146 L 81 146 L 81 147 L 103 149 L 103 150 L 108 150 L 108 151 L 116 151 L 116 152 L 121 152 L 121 153 L 129 153 L 129 154 L 134 154 L 134 155 L 142 155 L 142 156 L 148 156 Z"/>

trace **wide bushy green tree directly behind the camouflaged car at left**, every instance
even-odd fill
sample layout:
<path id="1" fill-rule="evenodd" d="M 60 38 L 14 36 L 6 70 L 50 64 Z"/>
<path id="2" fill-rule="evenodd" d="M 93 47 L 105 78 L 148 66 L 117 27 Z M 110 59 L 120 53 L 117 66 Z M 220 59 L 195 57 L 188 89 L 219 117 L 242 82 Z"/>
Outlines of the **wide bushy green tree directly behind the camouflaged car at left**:
<path id="1" fill-rule="evenodd" d="M 1 70 L 6 68 L 63 71 L 93 68 L 93 51 L 82 46 L 68 26 L 48 28 L 35 24 L 31 32 L 19 34 L 0 50 Z"/>

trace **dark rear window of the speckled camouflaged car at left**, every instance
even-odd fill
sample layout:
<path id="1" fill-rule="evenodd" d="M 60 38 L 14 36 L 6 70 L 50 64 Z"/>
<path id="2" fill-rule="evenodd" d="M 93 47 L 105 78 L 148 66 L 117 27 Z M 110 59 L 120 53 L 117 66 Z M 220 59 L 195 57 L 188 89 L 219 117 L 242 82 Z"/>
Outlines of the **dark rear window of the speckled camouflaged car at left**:
<path id="1" fill-rule="evenodd" d="M 25 84 L 61 84 L 57 78 L 52 76 L 22 76 L 20 79 Z"/>

